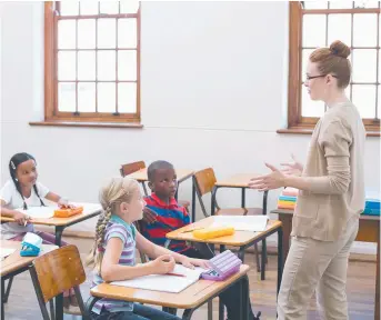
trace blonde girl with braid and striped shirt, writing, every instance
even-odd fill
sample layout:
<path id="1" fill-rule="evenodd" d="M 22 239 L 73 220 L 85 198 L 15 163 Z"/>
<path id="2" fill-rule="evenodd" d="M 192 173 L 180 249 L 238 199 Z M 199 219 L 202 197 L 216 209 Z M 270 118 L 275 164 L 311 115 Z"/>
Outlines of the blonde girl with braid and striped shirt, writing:
<path id="1" fill-rule="evenodd" d="M 103 213 L 96 229 L 94 247 L 88 258 L 93 267 L 93 284 L 133 279 L 148 274 L 171 272 L 176 262 L 188 268 L 208 268 L 208 262 L 191 259 L 157 246 L 134 228 L 133 222 L 142 219 L 146 202 L 139 183 L 129 178 L 112 178 L 100 192 Z M 151 259 L 148 263 L 136 264 L 136 248 Z M 91 310 L 97 320 L 174 320 L 176 316 L 139 303 L 101 299 Z"/>

